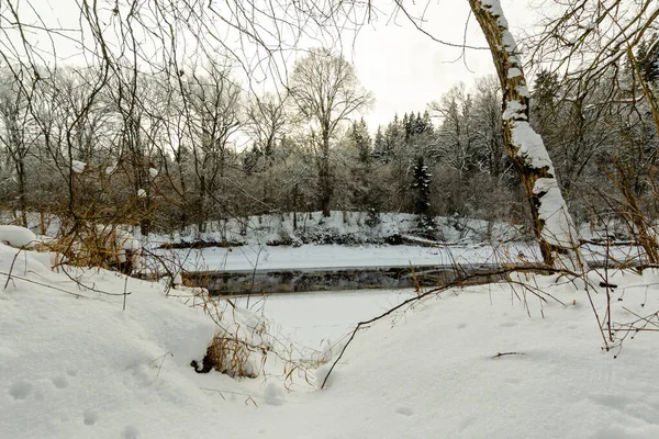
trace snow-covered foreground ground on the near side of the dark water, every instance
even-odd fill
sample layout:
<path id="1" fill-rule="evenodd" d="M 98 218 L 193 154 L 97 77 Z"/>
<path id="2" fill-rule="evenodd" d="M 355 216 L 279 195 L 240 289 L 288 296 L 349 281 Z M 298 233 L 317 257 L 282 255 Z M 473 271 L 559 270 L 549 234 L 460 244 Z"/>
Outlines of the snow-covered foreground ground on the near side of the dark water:
<path id="1" fill-rule="evenodd" d="M 581 281 L 520 277 L 429 295 L 360 330 L 320 391 L 320 347 L 338 341 L 335 359 L 356 322 L 413 292 L 252 297 L 277 342 L 265 374 L 234 380 L 189 365 L 216 331 L 190 291 L 67 275 L 16 251 L 0 244 L 1 438 L 659 437 L 657 271 L 610 273 L 622 326 L 608 352 Z M 604 320 L 605 290 L 592 293 Z M 271 361 L 291 352 L 316 359 L 309 382 Z"/>

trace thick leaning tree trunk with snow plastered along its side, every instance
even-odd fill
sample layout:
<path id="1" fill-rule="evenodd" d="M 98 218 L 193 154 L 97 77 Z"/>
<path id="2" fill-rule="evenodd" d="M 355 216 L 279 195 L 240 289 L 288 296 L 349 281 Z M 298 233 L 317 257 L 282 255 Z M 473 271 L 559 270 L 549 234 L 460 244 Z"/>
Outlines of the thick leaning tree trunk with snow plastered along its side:
<path id="1" fill-rule="evenodd" d="M 528 123 L 529 99 L 522 63 L 499 0 L 469 0 L 485 35 L 503 91 L 503 144 L 520 173 L 545 263 L 581 271 L 585 262 L 541 137 Z"/>

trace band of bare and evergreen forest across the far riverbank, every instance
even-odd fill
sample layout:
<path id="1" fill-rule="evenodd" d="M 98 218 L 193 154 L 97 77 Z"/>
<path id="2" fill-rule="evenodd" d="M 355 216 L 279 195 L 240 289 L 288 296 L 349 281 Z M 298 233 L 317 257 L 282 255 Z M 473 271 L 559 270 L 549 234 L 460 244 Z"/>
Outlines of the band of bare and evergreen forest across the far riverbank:
<path id="1" fill-rule="evenodd" d="M 532 126 L 578 223 L 619 215 L 632 201 L 657 214 L 657 124 L 643 91 L 656 99 L 659 45 L 647 38 L 634 56 L 639 75 L 622 59 L 595 83 L 540 71 L 530 87 Z M 32 82 L 20 67 L 2 68 L 0 205 L 18 224 L 26 212 L 71 209 L 143 234 L 331 210 L 369 212 L 373 223 L 382 212 L 528 223 L 494 77 L 454 85 L 425 111 L 401 109 L 376 127 L 361 117 L 368 85 L 327 49 L 295 64 L 288 93 L 257 97 L 226 61 L 175 78 L 129 67 L 100 90 L 92 67 Z M 323 110 L 323 99 L 334 106 Z"/>

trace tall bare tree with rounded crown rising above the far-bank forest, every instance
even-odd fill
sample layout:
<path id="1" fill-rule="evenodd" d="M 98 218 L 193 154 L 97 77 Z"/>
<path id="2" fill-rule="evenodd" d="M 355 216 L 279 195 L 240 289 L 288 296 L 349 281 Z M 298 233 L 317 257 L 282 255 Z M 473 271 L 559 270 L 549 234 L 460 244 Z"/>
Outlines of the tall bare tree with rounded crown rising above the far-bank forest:
<path id="1" fill-rule="evenodd" d="M 372 95 L 361 87 L 355 68 L 328 49 L 312 49 L 298 60 L 289 92 L 299 115 L 311 124 L 317 147 L 319 195 L 325 217 L 332 202 L 330 143 L 338 125 L 355 112 L 367 109 Z"/>

